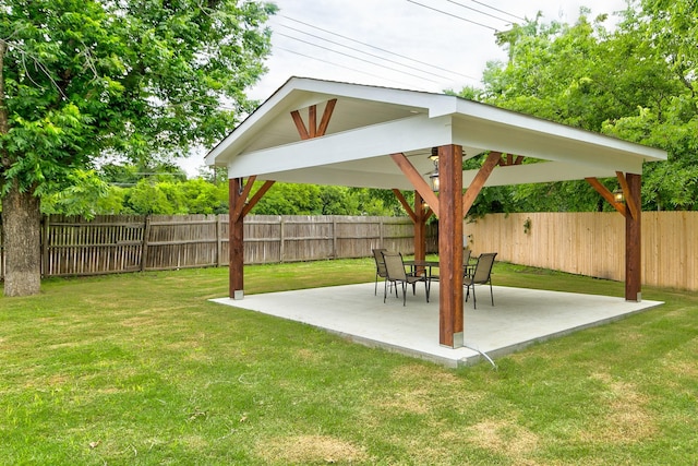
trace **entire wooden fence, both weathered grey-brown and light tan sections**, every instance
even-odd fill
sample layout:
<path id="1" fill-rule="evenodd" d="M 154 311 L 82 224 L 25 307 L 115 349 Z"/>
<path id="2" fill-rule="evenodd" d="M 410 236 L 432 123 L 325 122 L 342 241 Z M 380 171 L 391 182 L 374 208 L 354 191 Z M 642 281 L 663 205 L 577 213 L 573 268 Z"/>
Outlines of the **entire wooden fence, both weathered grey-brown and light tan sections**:
<path id="1" fill-rule="evenodd" d="M 497 260 L 623 280 L 625 225 L 616 213 L 492 214 L 466 223 L 473 252 Z M 642 283 L 698 290 L 698 212 L 642 213 Z M 43 225 L 45 276 L 96 275 L 228 264 L 228 216 L 50 216 Z M 245 218 L 248 264 L 363 258 L 383 247 L 413 253 L 409 218 Z M 428 229 L 436 251 L 436 228 Z M 4 277 L 0 232 L 0 278 Z"/>

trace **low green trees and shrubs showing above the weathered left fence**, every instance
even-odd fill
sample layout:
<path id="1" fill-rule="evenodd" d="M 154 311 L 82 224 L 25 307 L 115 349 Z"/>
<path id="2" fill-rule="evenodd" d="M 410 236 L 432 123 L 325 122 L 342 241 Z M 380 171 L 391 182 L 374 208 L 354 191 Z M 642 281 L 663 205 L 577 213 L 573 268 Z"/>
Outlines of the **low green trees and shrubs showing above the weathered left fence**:
<path id="1" fill-rule="evenodd" d="M 228 182 L 216 175 L 186 179 L 170 165 L 103 166 L 76 170 L 70 188 L 41 198 L 44 214 L 227 214 Z M 253 192 L 263 182 L 256 182 Z M 412 200 L 413 193 L 405 193 Z M 390 191 L 335 186 L 275 183 L 254 206 L 257 215 L 402 215 Z"/>

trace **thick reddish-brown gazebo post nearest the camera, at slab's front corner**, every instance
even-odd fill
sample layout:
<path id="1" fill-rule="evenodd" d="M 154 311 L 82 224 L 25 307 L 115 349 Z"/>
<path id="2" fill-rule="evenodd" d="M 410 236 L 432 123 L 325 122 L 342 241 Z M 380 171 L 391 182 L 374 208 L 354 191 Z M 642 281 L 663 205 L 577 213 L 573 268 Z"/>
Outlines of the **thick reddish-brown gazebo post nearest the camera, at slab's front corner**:
<path id="1" fill-rule="evenodd" d="M 438 147 L 438 343 L 462 346 L 462 147 Z"/>

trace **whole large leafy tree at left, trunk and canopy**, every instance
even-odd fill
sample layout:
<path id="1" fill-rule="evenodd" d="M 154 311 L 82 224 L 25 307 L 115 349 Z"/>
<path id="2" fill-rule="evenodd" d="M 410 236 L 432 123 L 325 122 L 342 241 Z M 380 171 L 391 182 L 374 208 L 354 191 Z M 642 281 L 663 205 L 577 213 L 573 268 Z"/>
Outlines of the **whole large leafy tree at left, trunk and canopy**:
<path id="1" fill-rule="evenodd" d="M 0 195 L 4 294 L 39 291 L 39 196 L 104 155 L 144 162 L 210 145 L 251 111 L 270 3 L 4 0 Z"/>

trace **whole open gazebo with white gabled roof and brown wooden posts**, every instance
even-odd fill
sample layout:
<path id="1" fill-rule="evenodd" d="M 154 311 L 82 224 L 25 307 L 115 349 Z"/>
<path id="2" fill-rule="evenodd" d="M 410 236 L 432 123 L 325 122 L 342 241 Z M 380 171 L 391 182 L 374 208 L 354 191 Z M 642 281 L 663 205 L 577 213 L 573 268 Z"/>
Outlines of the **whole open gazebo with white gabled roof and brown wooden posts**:
<path id="1" fill-rule="evenodd" d="M 479 169 L 462 169 L 480 155 Z M 393 190 L 414 223 L 416 259 L 425 256 L 425 223 L 436 215 L 440 344 L 456 348 L 464 218 L 483 187 L 586 179 L 626 218 L 625 299 L 639 301 L 642 164 L 665 159 L 664 151 L 452 95 L 291 77 L 206 164 L 228 168 L 232 299 L 244 297 L 244 216 L 275 181 Z M 598 181 L 610 177 L 624 201 Z M 250 196 L 255 180 L 265 182 Z M 400 190 L 414 191 L 413 206 Z"/>

